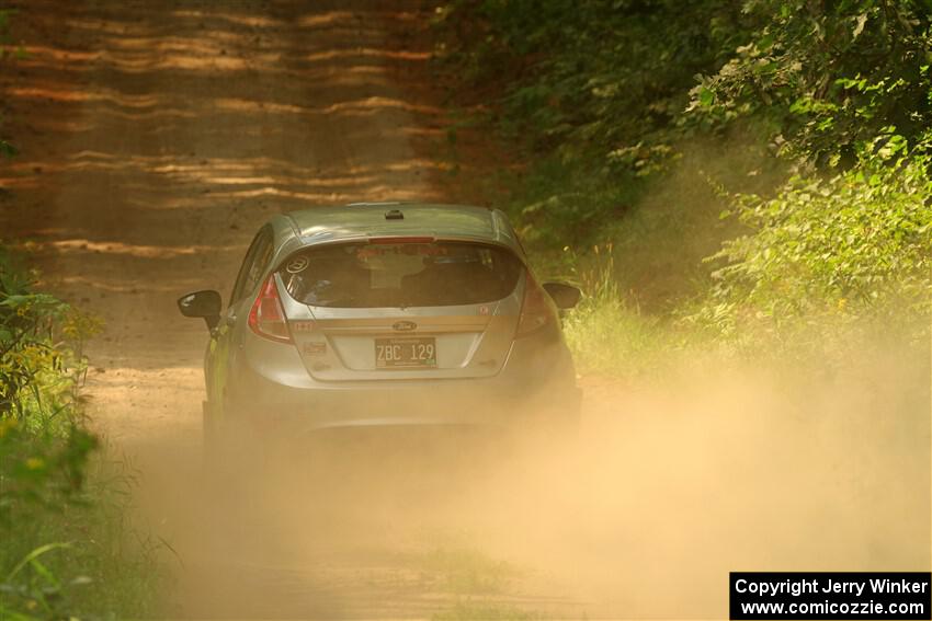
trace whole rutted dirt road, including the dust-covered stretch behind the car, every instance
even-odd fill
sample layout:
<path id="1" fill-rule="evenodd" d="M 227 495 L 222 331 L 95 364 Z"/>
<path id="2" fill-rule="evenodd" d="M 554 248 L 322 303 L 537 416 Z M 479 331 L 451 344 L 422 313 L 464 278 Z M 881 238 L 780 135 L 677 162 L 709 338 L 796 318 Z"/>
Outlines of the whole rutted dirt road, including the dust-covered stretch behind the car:
<path id="1" fill-rule="evenodd" d="M 423 156 L 442 115 L 410 36 L 427 16 L 417 0 L 19 4 L 29 55 L 2 89 L 22 154 L 0 169 L 0 237 L 33 240 L 44 285 L 105 321 L 91 412 L 138 460 L 140 516 L 179 553 L 172 616 L 695 618 L 724 614 L 729 570 L 928 568 L 929 502 L 910 493 L 929 490 L 928 418 L 865 409 L 912 416 L 927 399 L 928 373 L 895 353 L 817 393 L 590 382 L 573 468 L 535 460 L 440 498 L 212 505 L 207 334 L 174 300 L 228 292 L 275 211 L 457 198 Z"/>

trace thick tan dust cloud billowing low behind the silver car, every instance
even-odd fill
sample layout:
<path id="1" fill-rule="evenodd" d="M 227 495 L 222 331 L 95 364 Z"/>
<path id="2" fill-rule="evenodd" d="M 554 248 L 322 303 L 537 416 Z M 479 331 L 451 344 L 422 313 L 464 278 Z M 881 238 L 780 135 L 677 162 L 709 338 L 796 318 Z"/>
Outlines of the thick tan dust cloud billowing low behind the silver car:
<path id="1" fill-rule="evenodd" d="M 334 434 L 231 476 L 154 439 L 169 612 L 717 618 L 729 571 L 928 571 L 928 347 L 814 368 L 693 359 L 586 380 L 578 437 Z"/>

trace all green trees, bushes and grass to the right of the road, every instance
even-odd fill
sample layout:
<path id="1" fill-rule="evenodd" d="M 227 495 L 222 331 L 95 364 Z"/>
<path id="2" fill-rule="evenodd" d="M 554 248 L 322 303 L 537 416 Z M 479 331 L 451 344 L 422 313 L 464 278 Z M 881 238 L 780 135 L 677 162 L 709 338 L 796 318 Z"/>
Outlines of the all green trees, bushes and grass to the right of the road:
<path id="1" fill-rule="evenodd" d="M 552 272 L 596 275 L 567 318 L 584 369 L 928 332 L 930 20 L 928 0 L 446 4 L 461 97 L 530 159 L 503 203 Z M 771 156 L 715 147 L 736 130 Z M 605 241 L 611 273 L 587 250 Z"/>

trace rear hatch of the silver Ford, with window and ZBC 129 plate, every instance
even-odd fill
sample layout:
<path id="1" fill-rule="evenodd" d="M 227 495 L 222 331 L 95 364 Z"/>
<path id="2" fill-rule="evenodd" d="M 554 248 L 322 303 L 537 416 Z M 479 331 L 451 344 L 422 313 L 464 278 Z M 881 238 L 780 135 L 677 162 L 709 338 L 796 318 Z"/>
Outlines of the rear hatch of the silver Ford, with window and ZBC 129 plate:
<path id="1" fill-rule="evenodd" d="M 385 238 L 309 246 L 279 278 L 292 337 L 315 379 L 454 379 L 501 369 L 523 271 L 497 245 Z"/>

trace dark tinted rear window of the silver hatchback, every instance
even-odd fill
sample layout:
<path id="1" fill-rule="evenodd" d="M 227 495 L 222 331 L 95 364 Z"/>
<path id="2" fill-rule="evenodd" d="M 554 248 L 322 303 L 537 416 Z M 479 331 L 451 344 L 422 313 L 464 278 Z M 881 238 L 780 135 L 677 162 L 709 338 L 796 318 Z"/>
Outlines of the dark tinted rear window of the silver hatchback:
<path id="1" fill-rule="evenodd" d="M 297 254 L 282 267 L 296 300 L 315 307 L 446 307 L 508 297 L 521 262 L 466 242 L 349 243 Z"/>

